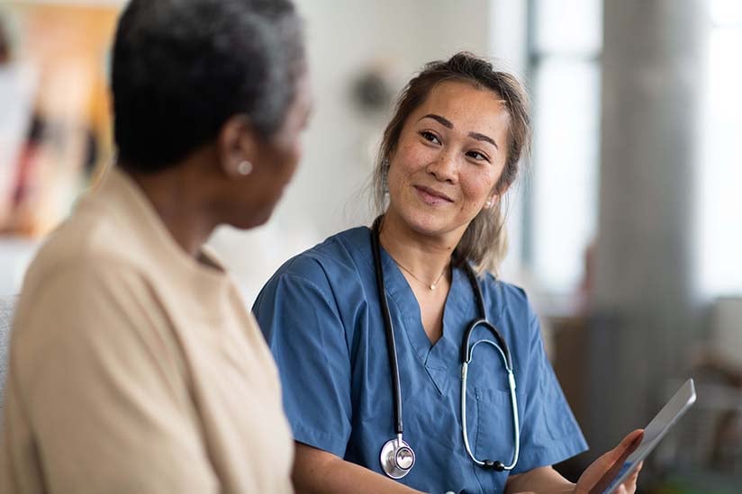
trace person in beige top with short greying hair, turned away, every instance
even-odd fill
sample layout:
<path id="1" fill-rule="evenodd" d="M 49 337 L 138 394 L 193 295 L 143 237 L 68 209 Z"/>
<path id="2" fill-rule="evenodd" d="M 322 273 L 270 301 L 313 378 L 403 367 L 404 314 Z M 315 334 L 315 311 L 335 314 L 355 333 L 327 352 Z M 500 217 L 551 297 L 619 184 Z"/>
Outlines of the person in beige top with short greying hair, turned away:
<path id="1" fill-rule="evenodd" d="M 309 110 L 289 0 L 132 0 L 118 163 L 49 239 L 14 320 L 0 491 L 290 492 L 270 352 L 204 241 L 271 215 Z"/>

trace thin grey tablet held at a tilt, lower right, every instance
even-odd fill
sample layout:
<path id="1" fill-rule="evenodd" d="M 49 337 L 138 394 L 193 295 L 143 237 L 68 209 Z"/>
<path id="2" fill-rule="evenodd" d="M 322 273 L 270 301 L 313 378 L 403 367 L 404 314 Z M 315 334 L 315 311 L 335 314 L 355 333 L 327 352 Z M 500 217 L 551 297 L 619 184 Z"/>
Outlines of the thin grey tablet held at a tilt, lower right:
<path id="1" fill-rule="evenodd" d="M 670 427 L 673 427 L 677 419 L 683 416 L 685 410 L 691 407 L 695 399 L 695 386 L 693 385 L 693 380 L 689 379 L 674 394 L 673 398 L 667 402 L 665 407 L 659 411 L 656 417 L 649 422 L 647 427 L 645 427 L 644 437 L 642 437 L 638 448 L 634 453 L 629 455 L 629 458 L 626 459 L 626 462 L 623 463 L 620 469 L 619 476 L 616 477 L 615 481 L 611 482 L 608 489 L 603 490 L 603 494 L 614 494 L 616 492 L 620 484 L 629 478 L 638 464 L 647 458 L 647 455 L 655 449 L 655 446 L 667 434 Z"/>

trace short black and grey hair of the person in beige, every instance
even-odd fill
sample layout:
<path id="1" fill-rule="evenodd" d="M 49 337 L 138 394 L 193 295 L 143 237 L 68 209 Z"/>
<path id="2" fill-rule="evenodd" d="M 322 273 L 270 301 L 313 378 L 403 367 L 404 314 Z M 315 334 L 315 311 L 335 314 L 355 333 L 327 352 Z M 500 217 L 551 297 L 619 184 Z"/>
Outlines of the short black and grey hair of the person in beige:
<path id="1" fill-rule="evenodd" d="M 215 139 L 236 114 L 268 139 L 303 69 L 290 0 L 131 0 L 113 47 L 119 157 L 157 171 Z"/>

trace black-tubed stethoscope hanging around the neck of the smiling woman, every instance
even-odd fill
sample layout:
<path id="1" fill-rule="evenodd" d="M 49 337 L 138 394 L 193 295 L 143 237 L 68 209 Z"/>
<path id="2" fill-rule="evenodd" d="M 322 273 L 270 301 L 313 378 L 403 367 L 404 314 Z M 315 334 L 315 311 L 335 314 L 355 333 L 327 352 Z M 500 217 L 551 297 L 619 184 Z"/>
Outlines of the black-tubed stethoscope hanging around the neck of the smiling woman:
<path id="1" fill-rule="evenodd" d="M 386 301 L 386 289 L 384 284 L 384 269 L 381 263 L 381 248 L 379 247 L 379 231 L 381 229 L 381 217 L 377 218 L 374 222 L 373 232 L 371 235 L 371 247 L 374 254 L 374 269 L 376 272 L 376 288 L 379 295 L 379 303 L 381 304 L 382 315 L 384 316 L 384 325 L 386 329 L 386 350 L 389 353 L 389 366 L 392 373 L 392 396 L 394 398 L 394 432 L 396 436 L 385 443 L 381 448 L 381 454 L 379 460 L 381 462 L 381 468 L 384 470 L 386 475 L 392 479 L 402 479 L 405 475 L 410 473 L 412 467 L 415 464 L 415 452 L 412 451 L 412 447 L 408 445 L 403 439 L 403 423 L 402 423 L 402 391 L 400 391 L 399 381 L 399 364 L 397 362 L 397 347 L 394 342 L 394 327 L 392 325 L 392 317 L 389 315 L 389 305 Z M 464 446 L 466 448 L 466 454 L 479 465 L 486 470 L 495 470 L 497 472 L 511 471 L 515 468 L 515 464 L 518 463 L 518 455 L 520 454 L 520 422 L 518 418 L 518 402 L 515 398 L 515 376 L 512 374 L 512 361 L 510 351 L 505 343 L 505 339 L 502 337 L 497 328 L 494 328 L 492 324 L 487 320 L 487 313 L 484 310 L 484 298 L 482 296 L 482 290 L 479 287 L 479 283 L 476 279 L 474 269 L 469 263 L 463 263 L 466 268 L 466 274 L 469 278 L 469 282 L 472 285 L 472 289 L 475 292 L 476 304 L 479 310 L 479 317 L 469 324 L 464 333 L 464 341 L 461 346 L 461 432 L 464 436 Z M 469 344 L 469 338 L 472 332 L 477 327 L 487 328 L 493 334 L 493 337 L 497 340 L 497 343 L 488 339 L 480 339 L 475 341 L 474 345 Z M 510 388 L 511 405 L 512 405 L 512 436 L 513 436 L 513 453 L 511 463 L 509 465 L 502 464 L 502 462 L 492 460 L 479 460 L 472 453 L 471 447 L 469 446 L 469 436 L 466 429 L 466 374 L 468 372 L 468 366 L 472 361 L 472 355 L 474 354 L 475 346 L 480 343 L 486 343 L 492 345 L 502 357 L 502 364 L 505 366 L 505 370 L 508 373 L 508 386 Z"/>

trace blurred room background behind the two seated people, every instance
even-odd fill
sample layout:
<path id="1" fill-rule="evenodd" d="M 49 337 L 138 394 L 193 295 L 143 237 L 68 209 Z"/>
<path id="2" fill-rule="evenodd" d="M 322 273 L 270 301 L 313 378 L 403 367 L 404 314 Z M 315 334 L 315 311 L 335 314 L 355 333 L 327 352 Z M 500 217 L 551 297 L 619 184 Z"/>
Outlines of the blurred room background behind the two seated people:
<path id="1" fill-rule="evenodd" d="M 112 163 L 122 4 L 0 0 L 0 297 Z M 740 492 L 742 2 L 297 4 L 315 95 L 302 166 L 267 226 L 210 241 L 246 303 L 289 256 L 372 220 L 376 145 L 422 64 L 499 58 L 528 85 L 535 127 L 502 278 L 529 291 L 591 444 L 559 469 L 574 478 L 693 376 L 699 400 L 640 490 Z"/>

